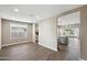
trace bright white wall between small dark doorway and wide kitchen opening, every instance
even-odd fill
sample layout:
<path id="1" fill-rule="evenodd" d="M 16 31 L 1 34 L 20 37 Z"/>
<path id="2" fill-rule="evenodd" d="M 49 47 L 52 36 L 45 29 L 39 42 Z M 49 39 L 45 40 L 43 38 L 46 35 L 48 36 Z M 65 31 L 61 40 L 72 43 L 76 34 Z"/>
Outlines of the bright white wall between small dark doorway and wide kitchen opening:
<path id="1" fill-rule="evenodd" d="M 57 51 L 56 18 L 50 18 L 39 23 L 39 44 Z"/>

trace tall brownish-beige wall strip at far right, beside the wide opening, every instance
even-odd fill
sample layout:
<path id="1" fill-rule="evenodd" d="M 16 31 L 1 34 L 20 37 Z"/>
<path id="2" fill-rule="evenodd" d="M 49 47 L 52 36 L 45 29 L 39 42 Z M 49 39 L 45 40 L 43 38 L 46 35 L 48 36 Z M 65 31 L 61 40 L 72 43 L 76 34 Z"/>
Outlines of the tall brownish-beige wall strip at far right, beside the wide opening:
<path id="1" fill-rule="evenodd" d="M 80 58 L 87 59 L 87 6 L 80 9 Z"/>

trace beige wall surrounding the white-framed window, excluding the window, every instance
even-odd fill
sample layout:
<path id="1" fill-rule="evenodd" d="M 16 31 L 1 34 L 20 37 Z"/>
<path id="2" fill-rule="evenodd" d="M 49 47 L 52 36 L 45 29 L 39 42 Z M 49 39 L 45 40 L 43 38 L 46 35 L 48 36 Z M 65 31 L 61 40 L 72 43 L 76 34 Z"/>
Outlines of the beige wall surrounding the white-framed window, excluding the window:
<path id="1" fill-rule="evenodd" d="M 28 35 L 24 39 L 17 39 L 17 40 L 11 40 L 10 39 L 10 23 L 19 23 L 19 24 L 26 24 L 28 25 Z M 20 43 L 20 42 L 32 42 L 32 24 L 29 23 L 22 23 L 22 22 L 15 22 L 15 21 L 10 21 L 10 20 L 2 20 L 2 46 L 4 45 L 11 45 L 14 43 Z"/>

